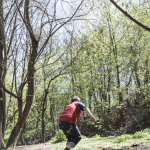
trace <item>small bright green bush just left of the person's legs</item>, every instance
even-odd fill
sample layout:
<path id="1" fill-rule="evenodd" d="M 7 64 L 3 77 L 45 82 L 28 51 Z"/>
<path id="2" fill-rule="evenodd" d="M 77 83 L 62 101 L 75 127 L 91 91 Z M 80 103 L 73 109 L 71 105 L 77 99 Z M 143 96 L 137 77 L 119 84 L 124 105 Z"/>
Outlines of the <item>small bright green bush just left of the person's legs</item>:
<path id="1" fill-rule="evenodd" d="M 66 136 L 64 135 L 62 130 L 58 130 L 56 135 L 51 139 L 52 143 L 59 143 L 66 140 Z"/>

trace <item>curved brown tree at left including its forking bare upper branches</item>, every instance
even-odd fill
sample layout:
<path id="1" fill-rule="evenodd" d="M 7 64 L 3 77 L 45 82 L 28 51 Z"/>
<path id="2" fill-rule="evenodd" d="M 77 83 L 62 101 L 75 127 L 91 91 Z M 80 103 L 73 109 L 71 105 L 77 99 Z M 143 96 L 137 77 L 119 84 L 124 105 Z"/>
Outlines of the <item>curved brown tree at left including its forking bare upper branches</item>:
<path id="1" fill-rule="evenodd" d="M 11 93 L 15 98 L 18 99 L 19 115 L 18 115 L 17 124 L 14 127 L 14 129 L 12 130 L 11 135 L 9 137 L 9 140 L 8 140 L 8 143 L 7 143 L 7 146 L 6 146 L 7 150 L 12 150 L 12 149 L 15 148 L 15 145 L 17 143 L 19 135 L 20 135 L 20 133 L 22 131 L 24 123 L 25 123 L 25 121 L 27 119 L 27 116 L 29 114 L 29 111 L 31 109 L 31 105 L 32 105 L 32 102 L 33 102 L 33 97 L 34 97 L 34 81 L 35 81 L 35 77 L 34 77 L 35 68 L 34 68 L 34 66 L 35 66 L 36 61 L 38 60 L 39 56 L 43 52 L 45 46 L 47 45 L 47 43 L 48 43 L 48 41 L 50 39 L 50 37 L 57 30 L 59 30 L 62 26 L 64 26 L 67 22 L 69 22 L 75 16 L 75 14 L 77 13 L 78 9 L 82 5 L 83 1 L 84 0 L 82 0 L 80 5 L 77 7 L 76 11 L 73 13 L 73 15 L 67 21 L 65 21 L 59 27 L 57 27 L 56 30 L 54 30 L 52 28 L 50 29 L 50 30 L 54 30 L 54 31 L 53 32 L 50 31 L 48 37 L 46 38 L 43 46 L 41 47 L 41 49 L 39 51 L 37 49 L 38 49 L 38 43 L 39 43 L 39 40 L 41 38 L 41 35 L 39 35 L 39 37 L 36 36 L 37 33 L 36 34 L 34 33 L 33 26 L 31 25 L 31 22 L 30 22 L 30 12 L 29 12 L 29 9 L 31 7 L 30 0 L 22 1 L 22 2 L 24 2 L 24 16 L 22 15 L 23 14 L 22 13 L 23 10 L 20 9 L 17 6 L 17 3 L 16 3 L 18 12 L 19 12 L 19 14 L 20 14 L 20 16 L 21 16 L 21 18 L 23 20 L 23 23 L 25 24 L 27 34 L 28 33 L 30 34 L 31 48 L 30 48 L 30 51 L 28 52 L 28 54 L 29 54 L 28 71 L 27 71 L 27 83 L 28 83 L 28 86 L 27 86 L 26 104 L 25 104 L 24 110 L 23 110 L 22 95 L 23 95 L 23 87 L 26 85 L 26 81 L 24 81 L 24 83 L 22 83 L 24 85 L 21 85 L 21 89 L 20 89 L 20 91 L 18 91 L 18 95 L 19 96 L 16 96 L 15 94 Z M 42 30 L 43 30 L 43 25 L 41 24 L 41 28 L 40 28 L 39 31 L 42 31 Z M 37 53 L 37 51 L 38 51 L 38 53 Z"/>

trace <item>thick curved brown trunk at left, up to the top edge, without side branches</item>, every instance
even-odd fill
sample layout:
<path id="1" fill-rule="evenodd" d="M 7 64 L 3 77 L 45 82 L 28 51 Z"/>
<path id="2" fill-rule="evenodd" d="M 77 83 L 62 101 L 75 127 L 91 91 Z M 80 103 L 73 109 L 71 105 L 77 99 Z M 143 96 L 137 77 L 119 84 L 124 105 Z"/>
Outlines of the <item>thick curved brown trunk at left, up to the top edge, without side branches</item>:
<path id="1" fill-rule="evenodd" d="M 22 131 L 22 128 L 24 126 L 24 123 L 27 119 L 27 116 L 29 114 L 32 102 L 33 102 L 33 96 L 34 96 L 34 74 L 35 74 L 35 59 L 37 57 L 37 49 L 38 49 L 38 41 L 34 36 L 34 32 L 32 30 L 32 26 L 30 23 L 30 18 L 29 18 L 29 0 L 25 0 L 25 20 L 26 20 L 26 25 L 28 26 L 31 42 L 32 42 L 32 49 L 30 53 L 30 58 L 28 62 L 28 73 L 27 73 L 27 82 L 28 82 L 28 87 L 27 87 L 27 96 L 26 96 L 26 105 L 24 108 L 24 111 L 22 112 L 22 97 L 18 98 L 18 109 L 19 109 L 19 116 L 18 116 L 18 121 L 16 126 L 14 127 L 13 131 L 11 132 L 11 135 L 9 137 L 8 143 L 7 143 L 7 150 L 12 150 L 15 148 L 17 144 L 17 140 L 20 136 L 20 133 Z M 21 91 L 23 92 L 23 91 Z M 19 96 L 22 95 L 19 94 Z"/>

